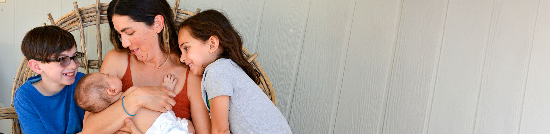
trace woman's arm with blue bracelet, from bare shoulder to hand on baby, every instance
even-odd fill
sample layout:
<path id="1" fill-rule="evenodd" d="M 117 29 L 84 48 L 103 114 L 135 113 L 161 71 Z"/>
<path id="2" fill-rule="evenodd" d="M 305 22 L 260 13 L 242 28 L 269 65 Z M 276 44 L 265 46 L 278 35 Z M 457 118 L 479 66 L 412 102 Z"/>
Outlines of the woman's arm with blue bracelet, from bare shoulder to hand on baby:
<path id="1" fill-rule="evenodd" d="M 124 59 L 124 60 L 122 60 Z M 123 52 L 111 50 L 105 56 L 100 72 L 124 75 L 127 68 L 128 55 Z M 135 114 L 139 108 L 145 107 L 151 110 L 166 112 L 175 104 L 175 93 L 160 87 L 142 87 L 124 97 L 124 109 L 129 114 Z M 114 133 L 124 125 L 124 119 L 131 118 L 122 108 L 122 101 L 118 100 L 106 109 L 98 113 L 86 112 L 84 114 L 84 133 Z"/>

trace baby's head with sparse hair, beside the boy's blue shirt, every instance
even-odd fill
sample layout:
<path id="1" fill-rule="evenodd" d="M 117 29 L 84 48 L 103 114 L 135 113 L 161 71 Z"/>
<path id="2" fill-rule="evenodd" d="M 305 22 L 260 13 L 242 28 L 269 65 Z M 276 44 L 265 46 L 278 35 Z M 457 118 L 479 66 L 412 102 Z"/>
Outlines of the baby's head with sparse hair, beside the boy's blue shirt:
<path id="1" fill-rule="evenodd" d="M 92 72 L 84 75 L 74 91 L 74 100 L 86 111 L 97 113 L 122 96 L 122 81 L 117 76 Z"/>

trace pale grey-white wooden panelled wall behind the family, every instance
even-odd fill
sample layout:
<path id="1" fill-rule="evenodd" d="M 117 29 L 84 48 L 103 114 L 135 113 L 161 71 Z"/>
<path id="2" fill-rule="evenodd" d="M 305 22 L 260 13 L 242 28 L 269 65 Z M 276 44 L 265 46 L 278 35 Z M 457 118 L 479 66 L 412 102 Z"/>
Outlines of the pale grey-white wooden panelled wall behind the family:
<path id="1" fill-rule="evenodd" d="M 47 13 L 74 10 L 74 0 L 6 1 L 0 107 L 10 104 L 26 32 L 49 24 Z M 182 0 L 180 8 L 227 13 L 260 54 L 294 133 L 550 132 L 548 0 Z M 96 59 L 95 28 L 85 33 Z M 112 49 L 104 39 L 103 54 Z M 0 120 L 0 132 L 10 128 Z"/>

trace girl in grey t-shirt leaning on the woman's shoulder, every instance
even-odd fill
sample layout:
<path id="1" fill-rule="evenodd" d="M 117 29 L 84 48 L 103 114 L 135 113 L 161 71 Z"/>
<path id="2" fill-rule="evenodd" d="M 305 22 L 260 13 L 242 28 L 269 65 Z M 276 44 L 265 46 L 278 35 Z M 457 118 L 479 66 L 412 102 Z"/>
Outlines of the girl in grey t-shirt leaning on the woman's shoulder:
<path id="1" fill-rule="evenodd" d="M 281 111 L 246 62 L 243 41 L 229 20 L 206 10 L 179 26 L 180 61 L 201 76 L 202 98 L 210 110 L 212 133 L 292 133 Z"/>

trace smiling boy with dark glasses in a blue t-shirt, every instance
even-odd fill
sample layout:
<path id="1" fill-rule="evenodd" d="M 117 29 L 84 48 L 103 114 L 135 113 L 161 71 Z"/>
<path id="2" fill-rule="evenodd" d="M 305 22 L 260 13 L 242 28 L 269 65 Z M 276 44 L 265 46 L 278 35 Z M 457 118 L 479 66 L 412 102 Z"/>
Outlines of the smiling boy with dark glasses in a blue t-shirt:
<path id="1" fill-rule="evenodd" d="M 21 52 L 32 71 L 15 92 L 13 105 L 23 133 L 79 133 L 84 110 L 74 102 L 84 53 L 76 52 L 70 32 L 58 26 L 36 27 L 25 35 Z"/>

